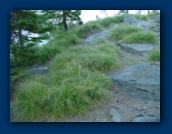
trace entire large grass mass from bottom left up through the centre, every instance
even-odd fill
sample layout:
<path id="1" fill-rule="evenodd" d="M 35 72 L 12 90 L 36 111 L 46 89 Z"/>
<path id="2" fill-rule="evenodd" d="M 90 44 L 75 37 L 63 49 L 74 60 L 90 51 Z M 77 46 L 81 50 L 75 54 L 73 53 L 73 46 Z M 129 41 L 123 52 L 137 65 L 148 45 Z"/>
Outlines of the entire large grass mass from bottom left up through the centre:
<path id="1" fill-rule="evenodd" d="M 57 54 L 46 76 L 18 86 L 12 102 L 16 121 L 55 121 L 82 114 L 108 98 L 112 83 L 102 72 L 120 67 L 112 44 L 76 46 Z"/>

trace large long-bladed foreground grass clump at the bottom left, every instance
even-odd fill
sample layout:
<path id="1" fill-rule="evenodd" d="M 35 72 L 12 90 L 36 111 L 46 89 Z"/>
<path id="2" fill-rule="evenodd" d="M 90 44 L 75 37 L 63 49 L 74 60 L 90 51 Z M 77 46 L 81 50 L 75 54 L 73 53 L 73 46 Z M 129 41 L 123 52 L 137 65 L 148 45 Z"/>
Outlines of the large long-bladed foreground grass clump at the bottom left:
<path id="1" fill-rule="evenodd" d="M 67 72 L 70 76 L 65 76 Z M 59 74 L 63 79 L 58 78 Z M 48 76 L 40 80 L 34 78 L 18 87 L 11 104 L 17 121 L 52 121 L 81 114 L 88 105 L 106 98 L 108 92 L 104 87 L 111 84 L 100 73 L 77 66 Z"/>

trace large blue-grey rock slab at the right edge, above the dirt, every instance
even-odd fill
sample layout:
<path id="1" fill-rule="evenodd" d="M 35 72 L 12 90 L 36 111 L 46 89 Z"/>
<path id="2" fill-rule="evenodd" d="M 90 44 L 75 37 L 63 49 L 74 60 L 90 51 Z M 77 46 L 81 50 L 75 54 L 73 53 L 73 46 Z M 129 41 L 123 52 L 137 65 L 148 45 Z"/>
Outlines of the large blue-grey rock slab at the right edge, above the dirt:
<path id="1" fill-rule="evenodd" d="M 142 62 L 125 66 L 108 75 L 113 86 L 130 96 L 143 100 L 160 100 L 160 67 Z"/>

